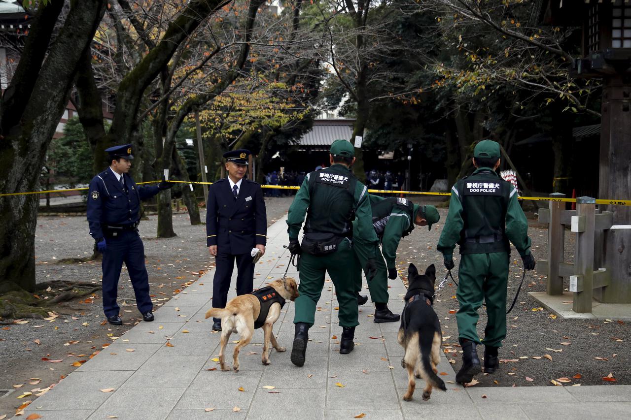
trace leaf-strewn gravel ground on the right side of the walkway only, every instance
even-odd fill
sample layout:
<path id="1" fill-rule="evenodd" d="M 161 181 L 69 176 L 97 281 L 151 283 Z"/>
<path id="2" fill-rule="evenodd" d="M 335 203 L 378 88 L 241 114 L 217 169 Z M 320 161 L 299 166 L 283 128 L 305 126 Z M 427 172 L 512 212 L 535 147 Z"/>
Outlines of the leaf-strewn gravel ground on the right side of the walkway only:
<path id="1" fill-rule="evenodd" d="M 437 268 L 437 284 L 445 276 L 442 254 L 436 250 L 442 223 L 447 217 L 447 209 L 440 209 L 440 222 L 432 226 L 431 231 L 416 228 L 399 244 L 398 269 L 406 274 L 408 264 L 414 262 L 419 271 L 428 265 Z M 536 222 L 529 215 L 529 236 L 533 240 L 535 259 L 546 259 L 548 230 L 546 225 Z M 574 259 L 574 234 L 567 232 L 565 243 L 565 260 Z M 523 265 L 517 250 L 510 254 L 510 275 L 508 298 L 509 305 L 515 296 L 521 281 Z M 454 255 L 455 269 L 452 271 L 456 281 L 459 255 Z M 567 289 L 568 279 L 565 279 Z M 551 380 L 568 378 L 567 385 L 615 385 L 631 383 L 629 366 L 631 349 L 631 331 L 628 324 L 621 320 L 579 320 L 551 317 L 547 310 L 533 310 L 541 305 L 528 296 L 529 291 L 545 291 L 545 277 L 535 272 L 527 272 L 519 299 L 507 317 L 507 337 L 500 349 L 500 369 L 493 375 L 478 375 L 478 386 L 512 387 L 552 385 Z M 391 296 L 394 298 L 394 296 Z M 571 307 L 571 300 L 569 305 Z M 458 303 L 456 285 L 451 281 L 439 292 L 434 303 L 434 310 L 442 324 L 444 348 L 447 356 L 454 360 L 456 372 L 462 365 L 456 324 Z M 478 335 L 483 337 L 487 323 L 485 308 L 478 311 Z M 478 347 L 478 356 L 482 359 L 484 347 Z M 547 359 L 544 355 L 551 357 Z M 542 357 L 543 356 L 543 357 Z M 602 358 L 595 359 L 595 358 Z M 604 376 L 613 374 L 616 382 L 603 380 Z"/>

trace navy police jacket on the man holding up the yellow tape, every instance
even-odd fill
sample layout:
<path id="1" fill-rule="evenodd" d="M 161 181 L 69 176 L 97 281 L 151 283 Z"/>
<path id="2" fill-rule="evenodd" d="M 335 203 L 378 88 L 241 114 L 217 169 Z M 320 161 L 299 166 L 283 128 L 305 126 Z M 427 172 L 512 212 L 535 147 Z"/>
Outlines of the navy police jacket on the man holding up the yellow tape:
<path id="1" fill-rule="evenodd" d="M 88 192 L 88 224 L 93 238 L 103 238 L 104 226 L 133 226 L 140 219 L 140 201 L 160 192 L 157 186 L 138 187 L 123 174 L 127 189 L 124 192 L 114 172 L 107 168 L 92 178 Z"/>

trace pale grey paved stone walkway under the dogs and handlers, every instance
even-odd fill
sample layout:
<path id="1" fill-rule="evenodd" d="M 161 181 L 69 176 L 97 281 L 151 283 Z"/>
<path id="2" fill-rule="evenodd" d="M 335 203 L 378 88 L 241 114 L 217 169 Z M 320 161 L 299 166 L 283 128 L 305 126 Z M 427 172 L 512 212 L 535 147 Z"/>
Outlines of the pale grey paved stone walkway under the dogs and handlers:
<path id="1" fill-rule="evenodd" d="M 268 236 L 255 286 L 280 278 L 288 264 L 285 220 L 271 226 Z M 289 272 L 297 277 L 295 268 Z M 204 320 L 211 307 L 213 275 L 201 277 L 157 310 L 155 322 L 136 325 L 16 418 L 37 413 L 44 420 L 307 420 L 362 414 L 374 419 L 599 419 L 626 418 L 631 412 L 631 386 L 464 389 L 453 383 L 454 371 L 445 358 L 438 369 L 446 373 L 441 377 L 447 392 L 435 391 L 424 402 L 423 380 L 418 380 L 415 400 L 404 402 L 407 375 L 401 369 L 403 349 L 396 342 L 399 325 L 374 324 L 370 303 L 362 306 L 357 346 L 340 355 L 339 339 L 333 338 L 341 335 L 338 303 L 330 280 L 309 332 L 305 366 L 297 368 L 290 361 L 294 307 L 288 302 L 274 325 L 278 342 L 288 351 L 272 350 L 271 365 L 262 365 L 262 330 L 256 330 L 252 344 L 241 352 L 240 371 L 222 372 L 213 361 L 220 334 L 211 334 L 211 320 Z M 391 281 L 393 312 L 403 309 L 405 290 L 399 279 Z M 233 346 L 228 345 L 228 361 Z M 106 388 L 114 390 L 102 392 Z"/>

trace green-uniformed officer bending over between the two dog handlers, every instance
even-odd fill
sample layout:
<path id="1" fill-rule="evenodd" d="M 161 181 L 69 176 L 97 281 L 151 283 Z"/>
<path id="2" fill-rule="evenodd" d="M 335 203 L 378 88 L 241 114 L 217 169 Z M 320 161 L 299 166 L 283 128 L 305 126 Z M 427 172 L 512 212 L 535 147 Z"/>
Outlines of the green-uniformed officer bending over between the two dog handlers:
<path id="1" fill-rule="evenodd" d="M 428 226 L 428 230 L 432 229 L 432 225 L 440 220 L 440 214 L 434 206 L 420 206 L 399 197 L 384 198 L 371 194 L 370 204 L 372 205 L 372 226 L 381 242 L 383 252 L 382 255 L 377 248 L 377 273 L 372 279 L 367 277 L 370 299 L 375 304 L 374 322 L 397 322 L 399 315 L 392 313 L 387 307 L 387 279 L 397 277 L 395 262 L 399 241 L 404 236 L 410 235 L 414 225 Z M 357 221 L 353 221 L 353 231 L 355 230 L 357 230 Z M 361 237 L 354 237 L 353 250 L 355 250 L 353 283 L 359 293 L 362 289 L 362 268 L 369 259 L 372 245 L 363 242 Z M 362 303 L 362 300 L 358 301 Z"/>

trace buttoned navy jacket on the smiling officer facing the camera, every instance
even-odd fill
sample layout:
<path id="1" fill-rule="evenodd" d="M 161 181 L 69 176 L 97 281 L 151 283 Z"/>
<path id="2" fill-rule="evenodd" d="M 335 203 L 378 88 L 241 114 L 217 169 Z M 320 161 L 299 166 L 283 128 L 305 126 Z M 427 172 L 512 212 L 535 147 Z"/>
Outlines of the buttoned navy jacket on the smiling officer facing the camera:
<path id="1" fill-rule="evenodd" d="M 255 245 L 265 245 L 268 218 L 261 185 L 243 178 L 235 200 L 228 178 L 208 188 L 206 244 L 217 245 L 221 254 L 250 254 Z"/>

